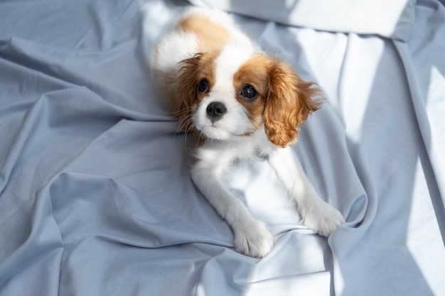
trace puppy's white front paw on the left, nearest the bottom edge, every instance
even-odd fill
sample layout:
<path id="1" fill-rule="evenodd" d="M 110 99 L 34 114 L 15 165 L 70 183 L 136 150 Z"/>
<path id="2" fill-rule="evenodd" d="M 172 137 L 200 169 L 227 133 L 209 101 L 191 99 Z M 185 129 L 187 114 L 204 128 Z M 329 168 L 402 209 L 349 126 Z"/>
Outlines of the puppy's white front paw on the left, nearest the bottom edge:
<path id="1" fill-rule="evenodd" d="M 237 225 L 234 233 L 235 251 L 250 257 L 263 258 L 274 246 L 272 234 L 262 222 L 254 219 Z"/>

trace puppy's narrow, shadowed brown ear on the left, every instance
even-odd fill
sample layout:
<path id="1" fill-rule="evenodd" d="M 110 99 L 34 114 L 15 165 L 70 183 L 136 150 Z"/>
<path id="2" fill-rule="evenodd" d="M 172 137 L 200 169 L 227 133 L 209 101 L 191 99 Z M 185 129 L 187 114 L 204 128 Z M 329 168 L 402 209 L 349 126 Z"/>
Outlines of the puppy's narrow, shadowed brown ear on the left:
<path id="1" fill-rule="evenodd" d="M 183 131 L 193 130 L 193 102 L 195 102 L 198 92 L 198 71 L 202 54 L 198 53 L 193 57 L 179 62 L 178 77 L 178 98 L 181 101 L 177 111 L 179 127 Z"/>

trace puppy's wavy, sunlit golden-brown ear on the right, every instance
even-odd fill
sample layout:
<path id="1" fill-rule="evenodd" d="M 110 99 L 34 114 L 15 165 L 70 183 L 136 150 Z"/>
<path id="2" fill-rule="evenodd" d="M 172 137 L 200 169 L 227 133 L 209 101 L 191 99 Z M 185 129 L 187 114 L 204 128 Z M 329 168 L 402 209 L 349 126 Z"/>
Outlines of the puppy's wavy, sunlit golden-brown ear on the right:
<path id="1" fill-rule="evenodd" d="M 289 146 L 298 137 L 298 126 L 323 103 L 316 97 L 321 90 L 305 82 L 291 67 L 276 62 L 269 74 L 268 97 L 264 107 L 267 138 L 279 147 Z"/>

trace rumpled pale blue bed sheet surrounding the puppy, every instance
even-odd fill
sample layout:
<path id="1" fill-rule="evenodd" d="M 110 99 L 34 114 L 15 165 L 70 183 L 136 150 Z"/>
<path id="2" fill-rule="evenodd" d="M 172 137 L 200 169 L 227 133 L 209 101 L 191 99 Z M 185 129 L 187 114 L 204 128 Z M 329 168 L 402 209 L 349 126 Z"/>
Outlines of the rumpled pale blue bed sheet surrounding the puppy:
<path id="1" fill-rule="evenodd" d="M 328 2 L 1 1 L 0 295 L 445 295 L 444 4 Z M 225 180 L 274 234 L 262 259 L 193 185 L 149 71 L 188 5 L 323 88 L 293 149 L 347 221 L 328 239 L 264 161 Z"/>

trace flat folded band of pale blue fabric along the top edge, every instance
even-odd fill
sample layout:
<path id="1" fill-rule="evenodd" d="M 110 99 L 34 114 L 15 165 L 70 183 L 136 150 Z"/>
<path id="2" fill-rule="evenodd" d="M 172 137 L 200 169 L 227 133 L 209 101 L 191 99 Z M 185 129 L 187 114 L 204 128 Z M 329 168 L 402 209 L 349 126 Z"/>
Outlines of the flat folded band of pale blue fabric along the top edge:
<path id="1" fill-rule="evenodd" d="M 243 16 L 275 21 L 286 26 L 321 31 L 376 34 L 407 40 L 414 23 L 414 0 L 190 0 L 196 6 L 213 7 Z"/>

